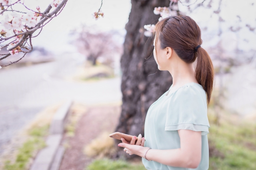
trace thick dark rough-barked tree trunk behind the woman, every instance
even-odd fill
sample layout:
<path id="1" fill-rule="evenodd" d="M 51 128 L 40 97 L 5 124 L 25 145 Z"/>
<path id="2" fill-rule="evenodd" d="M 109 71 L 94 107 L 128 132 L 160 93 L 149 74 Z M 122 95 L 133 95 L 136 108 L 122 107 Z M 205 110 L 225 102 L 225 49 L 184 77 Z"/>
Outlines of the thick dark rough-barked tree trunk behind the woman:
<path id="1" fill-rule="evenodd" d="M 144 36 L 144 25 L 156 24 L 160 16 L 154 14 L 154 8 L 169 6 L 170 0 L 131 0 L 131 2 L 132 9 L 125 27 L 127 34 L 124 53 L 121 57 L 122 112 L 116 131 L 136 136 L 142 134 L 143 137 L 148 108 L 172 85 L 170 73 L 158 70 L 152 53 L 153 37 Z M 120 142 L 116 140 L 116 145 Z M 123 151 L 123 148 L 118 148 L 117 156 L 136 157 L 135 154 L 129 155 Z"/>

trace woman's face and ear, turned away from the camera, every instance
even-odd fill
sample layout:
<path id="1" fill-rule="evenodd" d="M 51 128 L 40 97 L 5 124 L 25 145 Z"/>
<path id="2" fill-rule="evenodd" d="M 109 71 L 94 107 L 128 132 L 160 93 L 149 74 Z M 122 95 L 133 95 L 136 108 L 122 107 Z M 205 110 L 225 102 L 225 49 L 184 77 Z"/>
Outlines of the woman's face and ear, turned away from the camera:
<path id="1" fill-rule="evenodd" d="M 157 46 L 157 58 L 156 58 L 156 46 Z M 165 49 L 160 48 L 160 42 L 158 40 L 156 45 L 156 39 L 154 39 L 154 59 L 158 65 L 159 70 L 168 70 L 170 67 L 170 57 L 172 55 L 172 49 L 170 47 L 166 47 Z"/>

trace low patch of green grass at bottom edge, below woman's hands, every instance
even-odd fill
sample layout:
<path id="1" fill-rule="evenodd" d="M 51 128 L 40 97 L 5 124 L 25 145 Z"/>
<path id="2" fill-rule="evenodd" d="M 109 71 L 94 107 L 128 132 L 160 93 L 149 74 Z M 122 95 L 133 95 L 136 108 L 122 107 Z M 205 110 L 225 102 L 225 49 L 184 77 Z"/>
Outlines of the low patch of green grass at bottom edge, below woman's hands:
<path id="1" fill-rule="evenodd" d="M 146 170 L 143 164 L 134 165 L 124 160 L 107 158 L 94 160 L 85 170 Z"/>

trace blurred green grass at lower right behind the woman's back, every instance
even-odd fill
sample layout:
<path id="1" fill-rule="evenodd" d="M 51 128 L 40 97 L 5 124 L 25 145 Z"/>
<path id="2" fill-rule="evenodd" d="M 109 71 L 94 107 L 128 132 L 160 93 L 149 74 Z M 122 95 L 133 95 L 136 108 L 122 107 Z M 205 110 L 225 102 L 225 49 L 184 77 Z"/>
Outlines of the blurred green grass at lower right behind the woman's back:
<path id="1" fill-rule="evenodd" d="M 224 154 L 210 157 L 209 170 L 256 170 L 256 123 L 211 123 L 208 140 Z"/>

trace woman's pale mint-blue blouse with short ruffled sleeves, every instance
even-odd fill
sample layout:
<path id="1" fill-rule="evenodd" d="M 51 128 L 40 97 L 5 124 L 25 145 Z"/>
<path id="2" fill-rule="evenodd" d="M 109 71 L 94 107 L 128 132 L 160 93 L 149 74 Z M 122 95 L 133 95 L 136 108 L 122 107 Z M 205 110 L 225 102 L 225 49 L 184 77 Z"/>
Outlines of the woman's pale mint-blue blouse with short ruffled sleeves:
<path id="1" fill-rule="evenodd" d="M 178 149 L 178 129 L 190 129 L 202 133 L 201 162 L 196 169 L 208 170 L 209 147 L 207 134 L 210 128 L 207 117 L 206 92 L 200 84 L 190 82 L 176 91 L 165 92 L 148 109 L 144 126 L 144 147 L 152 149 Z M 168 96 L 166 96 L 168 94 Z M 190 168 L 167 166 L 142 157 L 147 170 L 192 170 Z"/>

